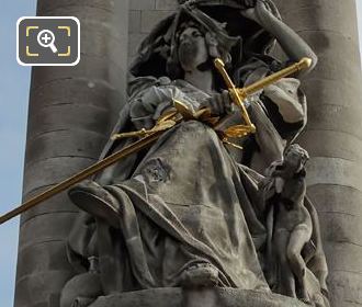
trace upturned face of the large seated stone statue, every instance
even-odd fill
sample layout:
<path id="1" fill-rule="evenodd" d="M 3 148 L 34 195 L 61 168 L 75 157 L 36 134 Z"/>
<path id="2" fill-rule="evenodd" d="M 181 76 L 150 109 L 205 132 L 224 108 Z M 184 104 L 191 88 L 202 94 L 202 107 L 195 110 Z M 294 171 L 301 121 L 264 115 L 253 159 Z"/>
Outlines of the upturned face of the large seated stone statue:
<path id="1" fill-rule="evenodd" d="M 208 50 L 204 35 L 194 26 L 181 32 L 179 36 L 179 60 L 184 71 L 193 71 L 207 61 Z"/>

